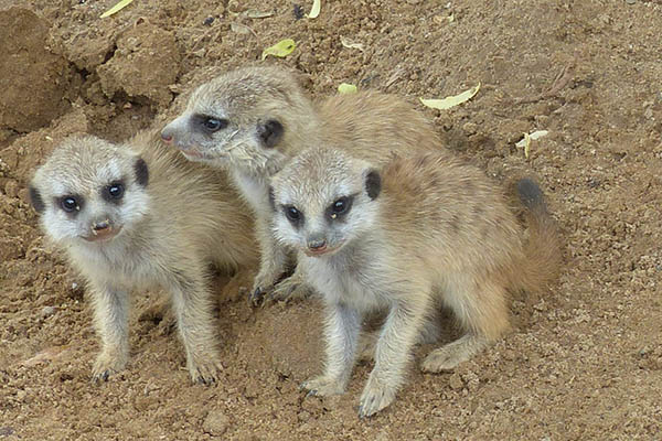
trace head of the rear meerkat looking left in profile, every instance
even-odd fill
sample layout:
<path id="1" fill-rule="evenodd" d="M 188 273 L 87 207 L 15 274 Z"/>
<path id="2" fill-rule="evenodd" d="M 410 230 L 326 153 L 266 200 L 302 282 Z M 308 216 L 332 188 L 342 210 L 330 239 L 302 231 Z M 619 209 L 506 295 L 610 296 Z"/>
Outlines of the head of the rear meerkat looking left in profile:
<path id="1" fill-rule="evenodd" d="M 191 161 L 271 174 L 312 118 L 310 99 L 291 73 L 247 67 L 200 86 L 161 138 Z"/>

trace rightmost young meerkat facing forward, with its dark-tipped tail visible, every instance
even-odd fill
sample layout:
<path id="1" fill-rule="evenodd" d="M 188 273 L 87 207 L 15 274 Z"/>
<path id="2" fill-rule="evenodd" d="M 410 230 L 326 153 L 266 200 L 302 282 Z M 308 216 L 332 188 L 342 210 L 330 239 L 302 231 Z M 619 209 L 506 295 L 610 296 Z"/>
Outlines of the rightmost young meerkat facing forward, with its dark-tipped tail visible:
<path id="1" fill-rule="evenodd" d="M 425 372 L 469 359 L 509 329 L 506 290 L 536 290 L 559 267 L 555 223 L 540 187 L 517 183 L 527 234 L 504 195 L 450 155 L 396 158 L 382 170 L 339 150 L 313 148 L 273 179 L 275 236 L 299 254 L 327 309 L 324 374 L 302 387 L 345 390 L 362 316 L 386 311 L 360 416 L 388 406 L 412 347 L 440 306 L 466 334 L 433 351 Z"/>

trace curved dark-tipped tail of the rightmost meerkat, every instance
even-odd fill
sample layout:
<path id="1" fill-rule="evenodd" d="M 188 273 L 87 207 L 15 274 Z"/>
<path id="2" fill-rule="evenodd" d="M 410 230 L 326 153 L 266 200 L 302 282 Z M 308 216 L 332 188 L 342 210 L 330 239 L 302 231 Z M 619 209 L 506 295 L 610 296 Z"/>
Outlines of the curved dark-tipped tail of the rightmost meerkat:
<path id="1" fill-rule="evenodd" d="M 523 260 L 516 268 L 514 288 L 535 291 L 552 281 L 560 269 L 558 227 L 547 211 L 541 187 L 533 180 L 521 179 L 515 183 L 515 189 L 524 207 L 528 234 L 524 241 Z"/>

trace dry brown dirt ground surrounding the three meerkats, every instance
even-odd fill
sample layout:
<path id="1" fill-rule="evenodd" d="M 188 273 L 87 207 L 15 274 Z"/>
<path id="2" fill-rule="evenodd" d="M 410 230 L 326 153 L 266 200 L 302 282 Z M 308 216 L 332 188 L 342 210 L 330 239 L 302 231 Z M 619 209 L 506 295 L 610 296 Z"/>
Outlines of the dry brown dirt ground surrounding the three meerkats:
<path id="1" fill-rule="evenodd" d="M 299 1 L 136 0 L 102 20 L 115 0 L 0 0 L 0 439 L 660 439 L 662 2 L 339 0 L 309 20 Z M 285 37 L 289 57 L 259 61 Z M 43 241 L 25 183 L 64 137 L 127 138 L 247 63 L 296 67 L 314 96 L 346 82 L 414 103 L 480 82 L 466 105 L 420 111 L 495 179 L 541 180 L 565 239 L 558 283 L 514 299 L 512 334 L 455 373 L 413 368 L 370 420 L 369 365 L 341 397 L 298 389 L 321 368 L 314 301 L 220 301 L 225 370 L 204 387 L 163 297 L 138 292 L 130 365 L 90 384 L 83 281 Z M 536 129 L 549 135 L 525 159 L 514 143 Z"/>

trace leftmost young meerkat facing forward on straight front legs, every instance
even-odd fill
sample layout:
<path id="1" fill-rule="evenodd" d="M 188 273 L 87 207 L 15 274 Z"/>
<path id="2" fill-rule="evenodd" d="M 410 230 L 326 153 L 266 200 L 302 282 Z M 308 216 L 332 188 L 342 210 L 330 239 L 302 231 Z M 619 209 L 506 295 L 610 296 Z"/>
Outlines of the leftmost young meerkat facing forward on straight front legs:
<path id="1" fill-rule="evenodd" d="M 84 136 L 55 149 L 29 190 L 46 236 L 88 282 L 102 340 L 93 379 L 128 362 L 129 292 L 162 287 L 191 378 L 215 381 L 209 263 L 232 271 L 259 257 L 249 211 L 224 174 L 164 148 L 158 131 L 122 144 Z"/>

